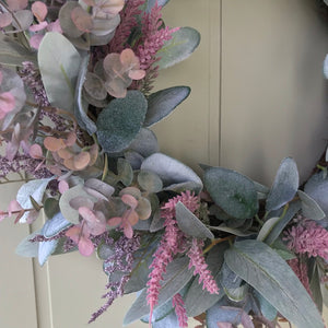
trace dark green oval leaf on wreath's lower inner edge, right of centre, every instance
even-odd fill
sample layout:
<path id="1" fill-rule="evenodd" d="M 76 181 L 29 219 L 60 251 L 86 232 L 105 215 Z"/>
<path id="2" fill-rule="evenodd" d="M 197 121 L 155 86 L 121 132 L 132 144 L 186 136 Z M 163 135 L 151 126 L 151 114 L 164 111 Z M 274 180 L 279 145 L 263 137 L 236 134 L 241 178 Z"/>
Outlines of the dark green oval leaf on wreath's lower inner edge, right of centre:
<path id="1" fill-rule="evenodd" d="M 257 191 L 248 177 L 232 169 L 211 167 L 204 172 L 204 186 L 227 214 L 249 219 L 257 213 Z"/>

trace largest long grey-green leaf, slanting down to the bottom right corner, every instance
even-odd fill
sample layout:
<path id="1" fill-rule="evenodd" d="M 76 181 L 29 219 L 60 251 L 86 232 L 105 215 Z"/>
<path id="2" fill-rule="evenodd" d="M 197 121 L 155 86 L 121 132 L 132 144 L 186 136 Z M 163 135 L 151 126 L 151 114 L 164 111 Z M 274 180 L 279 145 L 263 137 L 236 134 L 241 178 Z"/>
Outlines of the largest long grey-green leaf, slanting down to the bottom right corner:
<path id="1" fill-rule="evenodd" d="M 298 328 L 324 328 L 321 316 L 290 266 L 268 245 L 243 241 L 225 251 L 227 266 Z"/>

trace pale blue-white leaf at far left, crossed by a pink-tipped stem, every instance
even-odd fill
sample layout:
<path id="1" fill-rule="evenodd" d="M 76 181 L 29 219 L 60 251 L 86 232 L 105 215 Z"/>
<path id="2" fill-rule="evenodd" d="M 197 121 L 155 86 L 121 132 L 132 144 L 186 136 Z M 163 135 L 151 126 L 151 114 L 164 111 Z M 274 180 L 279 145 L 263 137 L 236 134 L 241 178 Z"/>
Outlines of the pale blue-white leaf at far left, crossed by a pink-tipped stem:
<path id="1" fill-rule="evenodd" d="M 33 197 L 33 199 L 40 204 L 44 198 L 45 190 L 50 180 L 52 180 L 52 178 L 37 179 L 24 184 L 17 191 L 16 201 L 25 210 L 33 208 L 30 197 Z M 28 212 L 25 212 L 20 219 L 20 223 L 26 223 L 28 214 Z"/>

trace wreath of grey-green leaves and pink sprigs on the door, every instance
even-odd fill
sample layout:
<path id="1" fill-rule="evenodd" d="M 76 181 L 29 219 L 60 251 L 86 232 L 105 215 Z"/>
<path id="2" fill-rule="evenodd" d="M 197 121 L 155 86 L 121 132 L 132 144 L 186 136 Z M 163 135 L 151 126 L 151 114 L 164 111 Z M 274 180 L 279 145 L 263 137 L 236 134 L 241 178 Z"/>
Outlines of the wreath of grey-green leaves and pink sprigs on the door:
<path id="1" fill-rule="evenodd" d="M 190 89 L 153 83 L 200 40 L 165 25 L 166 2 L 0 0 L 0 177 L 24 181 L 0 220 L 44 214 L 16 249 L 40 266 L 97 255 L 108 284 L 90 321 L 138 292 L 125 325 L 324 327 L 328 159 L 300 187 L 286 157 L 268 188 L 161 153 L 150 127 Z"/>

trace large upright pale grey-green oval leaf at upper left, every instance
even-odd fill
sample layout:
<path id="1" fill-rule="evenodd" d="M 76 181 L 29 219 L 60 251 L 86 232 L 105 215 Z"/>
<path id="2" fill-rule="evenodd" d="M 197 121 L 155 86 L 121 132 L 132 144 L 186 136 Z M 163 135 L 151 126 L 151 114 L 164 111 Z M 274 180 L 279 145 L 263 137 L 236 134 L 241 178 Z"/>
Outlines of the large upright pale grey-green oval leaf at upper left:
<path id="1" fill-rule="evenodd" d="M 50 104 L 73 112 L 81 56 L 60 33 L 48 32 L 37 52 L 42 80 Z"/>

